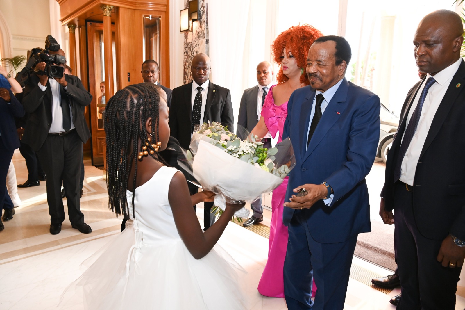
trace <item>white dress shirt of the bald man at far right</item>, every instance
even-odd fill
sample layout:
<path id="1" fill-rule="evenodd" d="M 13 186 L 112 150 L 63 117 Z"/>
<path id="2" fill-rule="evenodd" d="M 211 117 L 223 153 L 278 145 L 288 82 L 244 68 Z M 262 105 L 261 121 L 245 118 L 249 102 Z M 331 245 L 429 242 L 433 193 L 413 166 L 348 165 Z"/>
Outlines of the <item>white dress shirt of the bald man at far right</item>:
<path id="1" fill-rule="evenodd" d="M 428 94 L 426 94 L 425 102 L 423 103 L 423 107 L 421 109 L 420 120 L 418 122 L 417 130 L 415 135 L 413 135 L 412 141 L 410 142 L 409 147 L 405 153 L 404 159 L 402 160 L 401 165 L 401 173 L 400 173 L 400 181 L 404 182 L 408 185 L 413 186 L 413 180 L 415 179 L 415 170 L 417 169 L 417 163 L 420 159 L 420 153 L 425 144 L 426 136 L 431 127 L 431 123 L 433 121 L 434 115 L 438 110 L 439 104 L 442 101 L 442 98 L 449 87 L 449 84 L 452 81 L 452 77 L 457 72 L 458 67 L 460 66 L 460 62 L 462 58 L 458 61 L 454 62 L 449 67 L 446 67 L 442 71 L 438 72 L 436 75 L 433 76 L 436 83 L 434 83 L 430 89 L 428 89 Z M 431 75 L 427 74 L 425 81 L 430 78 Z M 420 86 L 415 99 L 412 102 L 412 107 L 407 115 L 407 122 L 405 124 L 405 128 L 407 128 L 410 118 L 412 117 L 413 111 L 418 105 L 419 98 L 421 96 L 421 92 L 425 88 L 425 82 Z M 404 132 L 405 135 L 405 132 Z M 404 136 L 402 136 L 402 140 L 404 140 Z M 402 142 L 402 141 L 401 141 Z"/>

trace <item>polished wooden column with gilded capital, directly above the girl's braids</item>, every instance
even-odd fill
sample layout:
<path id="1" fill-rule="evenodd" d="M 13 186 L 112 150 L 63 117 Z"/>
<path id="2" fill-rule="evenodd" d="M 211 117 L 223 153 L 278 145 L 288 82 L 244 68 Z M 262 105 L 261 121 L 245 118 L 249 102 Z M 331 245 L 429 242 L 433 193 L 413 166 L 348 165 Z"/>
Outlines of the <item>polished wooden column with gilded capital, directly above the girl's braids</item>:
<path id="1" fill-rule="evenodd" d="M 103 4 L 103 49 L 105 52 L 105 100 L 114 94 L 113 89 L 113 40 L 112 40 L 112 10 L 113 6 Z"/>

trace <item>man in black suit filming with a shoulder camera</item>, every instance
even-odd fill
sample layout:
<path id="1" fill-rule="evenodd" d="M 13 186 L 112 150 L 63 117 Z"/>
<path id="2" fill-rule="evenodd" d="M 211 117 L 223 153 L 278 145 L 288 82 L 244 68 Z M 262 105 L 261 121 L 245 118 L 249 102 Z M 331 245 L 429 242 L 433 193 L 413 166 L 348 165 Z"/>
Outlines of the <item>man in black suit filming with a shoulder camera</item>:
<path id="1" fill-rule="evenodd" d="M 50 55 L 65 56 L 63 50 L 50 51 Z M 57 64 L 61 67 L 63 63 Z M 48 64 L 50 66 L 50 64 Z M 65 220 L 61 183 L 66 191 L 68 216 L 71 226 L 88 234 L 92 229 L 84 222 L 80 211 L 80 168 L 82 146 L 90 132 L 84 119 L 84 109 L 92 100 L 80 79 L 74 75 L 49 78 L 46 62 L 35 65 L 24 89 L 22 100 L 30 114 L 23 140 L 38 154 L 47 175 L 48 211 L 51 217 L 50 233 L 61 231 Z M 47 74 L 43 74 L 44 70 Z"/>

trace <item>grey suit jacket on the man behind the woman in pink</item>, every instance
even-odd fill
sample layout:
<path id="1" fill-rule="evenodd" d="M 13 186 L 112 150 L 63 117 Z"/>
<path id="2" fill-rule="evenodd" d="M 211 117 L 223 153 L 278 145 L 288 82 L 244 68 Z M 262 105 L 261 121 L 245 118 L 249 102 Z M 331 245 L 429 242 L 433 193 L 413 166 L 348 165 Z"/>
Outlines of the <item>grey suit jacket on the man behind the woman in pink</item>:
<path id="1" fill-rule="evenodd" d="M 249 133 L 259 122 L 259 116 L 257 114 L 257 97 L 259 94 L 259 87 L 254 86 L 244 90 L 242 98 L 240 98 L 239 106 L 239 116 L 237 119 L 237 124 L 244 127 Z M 240 130 L 238 130 L 237 135 L 241 139 L 246 139 Z"/>

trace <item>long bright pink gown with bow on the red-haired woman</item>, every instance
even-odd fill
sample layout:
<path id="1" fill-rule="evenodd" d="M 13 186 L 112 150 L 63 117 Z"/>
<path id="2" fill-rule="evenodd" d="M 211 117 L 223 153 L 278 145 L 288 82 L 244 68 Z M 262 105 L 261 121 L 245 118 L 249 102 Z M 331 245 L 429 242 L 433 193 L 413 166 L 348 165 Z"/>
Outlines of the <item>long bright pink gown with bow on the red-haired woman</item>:
<path id="1" fill-rule="evenodd" d="M 273 101 L 273 88 L 270 87 L 265 98 L 265 103 L 261 115 L 265 119 L 265 124 L 270 134 L 274 138 L 279 133 L 278 143 L 282 141 L 284 121 L 287 116 L 287 101 L 277 106 Z M 271 225 L 270 241 L 268 245 L 268 261 L 260 278 L 258 291 L 261 295 L 268 297 L 284 298 L 284 278 L 283 268 L 284 259 L 286 258 L 287 238 L 289 234 L 287 227 L 283 225 L 284 197 L 286 196 L 288 177 L 283 180 L 281 185 L 273 190 L 271 199 Z M 315 282 L 312 286 L 312 296 L 315 296 L 317 288 Z"/>

